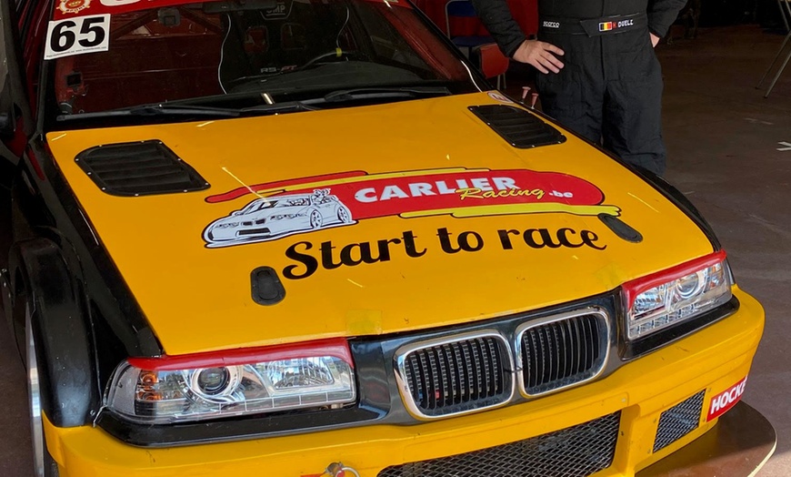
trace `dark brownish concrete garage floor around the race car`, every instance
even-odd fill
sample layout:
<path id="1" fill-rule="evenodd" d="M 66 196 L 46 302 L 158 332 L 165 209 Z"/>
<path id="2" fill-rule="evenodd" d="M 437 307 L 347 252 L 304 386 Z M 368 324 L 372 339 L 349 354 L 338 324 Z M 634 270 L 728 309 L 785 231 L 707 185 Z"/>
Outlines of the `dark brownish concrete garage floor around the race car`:
<path id="1" fill-rule="evenodd" d="M 760 477 L 791 475 L 791 356 L 785 335 L 791 322 L 791 150 L 777 150 L 783 147 L 779 142 L 791 142 L 791 68 L 768 99 L 754 87 L 782 40 L 743 25 L 701 29 L 695 40 L 657 48 L 666 84 L 666 178 L 712 223 L 740 286 L 766 308 L 766 333 L 745 394 L 778 434 L 776 454 Z M 0 210 L 6 203 L 0 189 Z M 2 218 L 0 246 L 7 227 Z M 0 390 L 0 476 L 28 477 L 25 376 L 5 330 Z"/>

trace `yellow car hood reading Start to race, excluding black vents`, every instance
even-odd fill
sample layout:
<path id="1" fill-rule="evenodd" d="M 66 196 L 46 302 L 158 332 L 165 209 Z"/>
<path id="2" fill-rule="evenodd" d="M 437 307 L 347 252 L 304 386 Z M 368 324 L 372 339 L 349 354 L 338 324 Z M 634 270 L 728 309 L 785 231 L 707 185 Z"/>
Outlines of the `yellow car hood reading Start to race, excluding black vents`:
<path id="1" fill-rule="evenodd" d="M 468 109 L 502 102 L 446 96 L 47 142 L 171 355 L 485 320 L 712 251 L 682 211 L 583 141 L 519 149 Z M 210 188 L 117 197 L 75 161 L 152 139 Z M 275 304 L 252 298 L 261 267 L 285 289 Z"/>

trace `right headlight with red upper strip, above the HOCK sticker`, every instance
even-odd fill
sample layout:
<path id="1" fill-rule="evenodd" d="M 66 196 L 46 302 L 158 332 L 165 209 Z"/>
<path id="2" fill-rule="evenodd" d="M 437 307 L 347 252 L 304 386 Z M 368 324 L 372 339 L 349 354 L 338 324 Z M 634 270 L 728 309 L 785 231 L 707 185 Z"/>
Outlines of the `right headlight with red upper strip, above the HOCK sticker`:
<path id="1" fill-rule="evenodd" d="M 724 250 L 624 284 L 629 340 L 694 318 L 731 299 Z"/>

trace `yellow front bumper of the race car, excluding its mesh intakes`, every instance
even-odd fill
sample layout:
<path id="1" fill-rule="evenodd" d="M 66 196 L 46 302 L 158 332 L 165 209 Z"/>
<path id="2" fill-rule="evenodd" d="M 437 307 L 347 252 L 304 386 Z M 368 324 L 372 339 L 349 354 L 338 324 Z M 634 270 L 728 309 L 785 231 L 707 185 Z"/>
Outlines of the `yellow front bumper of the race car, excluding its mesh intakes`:
<path id="1" fill-rule="evenodd" d="M 56 428 L 45 420 L 61 477 L 319 475 L 344 462 L 361 477 L 385 467 L 521 441 L 621 411 L 613 464 L 596 477 L 634 475 L 711 429 L 711 398 L 750 370 L 764 327 L 755 299 L 735 289 L 740 309 L 621 367 L 605 379 L 536 401 L 415 426 L 373 425 L 339 431 L 165 449 L 125 445 L 98 428 Z M 749 384 L 749 382 L 748 382 Z M 706 391 L 699 426 L 654 453 L 662 411 Z M 346 475 L 350 475 L 347 473 Z"/>

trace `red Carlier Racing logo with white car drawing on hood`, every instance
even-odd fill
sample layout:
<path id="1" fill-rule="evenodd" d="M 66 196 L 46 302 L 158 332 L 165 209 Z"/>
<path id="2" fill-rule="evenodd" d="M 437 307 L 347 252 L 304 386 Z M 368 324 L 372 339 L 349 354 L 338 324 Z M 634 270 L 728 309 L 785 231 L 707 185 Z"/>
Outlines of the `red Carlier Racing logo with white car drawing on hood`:
<path id="1" fill-rule="evenodd" d="M 350 171 L 236 188 L 205 200 L 220 204 L 241 198 L 247 198 L 243 207 L 205 228 L 206 247 L 281 239 L 387 216 L 620 215 L 620 208 L 604 205 L 604 193 L 586 180 L 526 169 Z"/>

